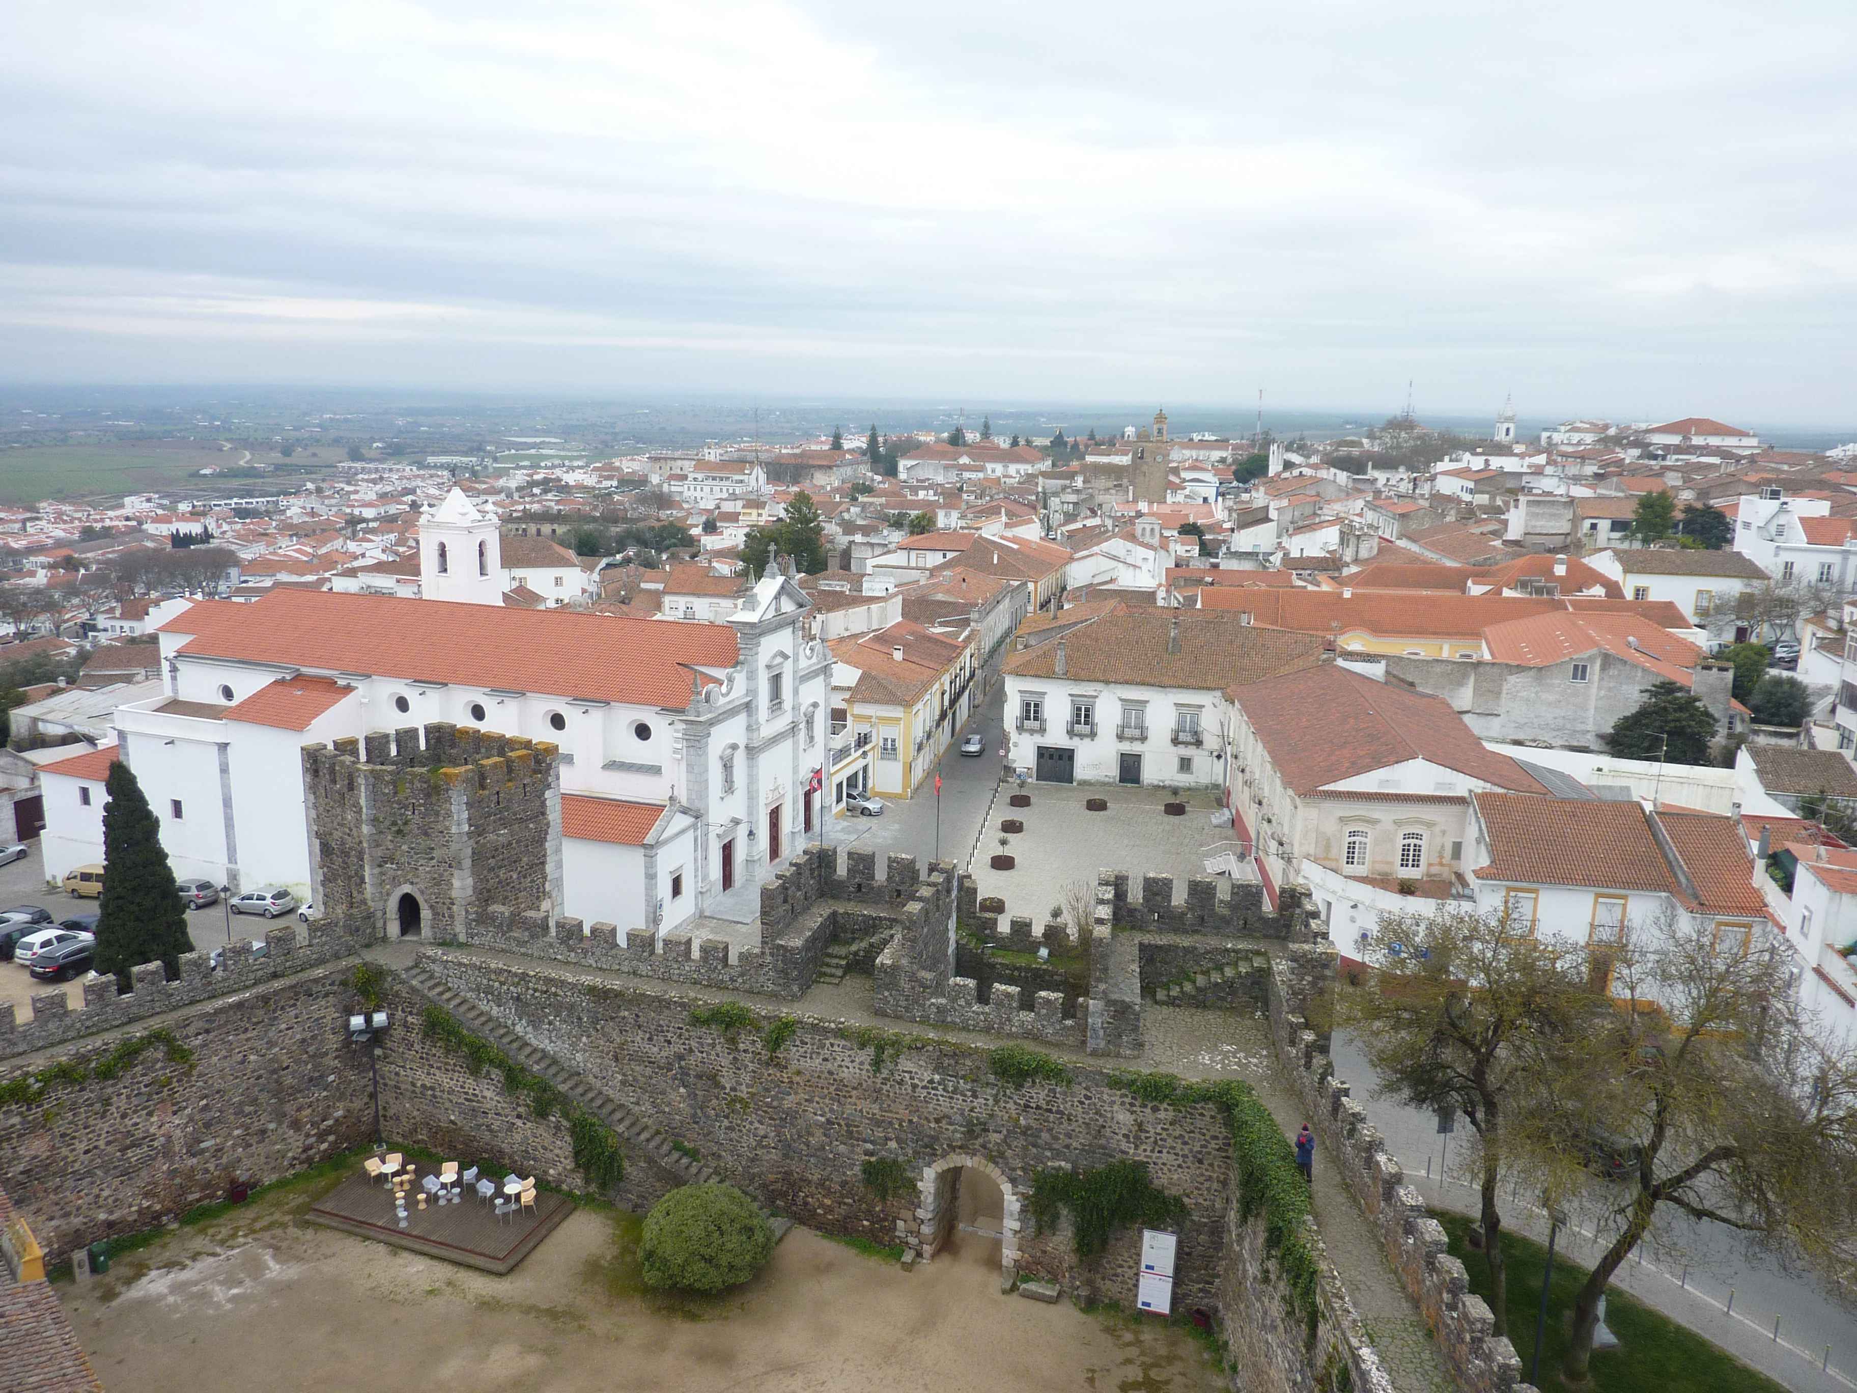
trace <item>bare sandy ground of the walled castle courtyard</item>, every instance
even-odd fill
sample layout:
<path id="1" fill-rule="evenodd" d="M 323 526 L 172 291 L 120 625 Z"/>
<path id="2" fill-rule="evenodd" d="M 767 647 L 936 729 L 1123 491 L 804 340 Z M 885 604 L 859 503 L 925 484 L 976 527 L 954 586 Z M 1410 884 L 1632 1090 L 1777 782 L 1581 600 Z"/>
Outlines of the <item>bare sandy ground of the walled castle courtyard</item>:
<path id="1" fill-rule="evenodd" d="M 329 1189 L 323 1183 L 319 1189 Z M 903 1272 L 793 1230 L 754 1282 L 669 1300 L 637 1282 L 639 1220 L 578 1211 L 496 1278 L 305 1224 L 266 1196 L 59 1287 L 111 1393 L 249 1389 L 1220 1387 L 1179 1330 L 999 1295 L 999 1244 Z"/>

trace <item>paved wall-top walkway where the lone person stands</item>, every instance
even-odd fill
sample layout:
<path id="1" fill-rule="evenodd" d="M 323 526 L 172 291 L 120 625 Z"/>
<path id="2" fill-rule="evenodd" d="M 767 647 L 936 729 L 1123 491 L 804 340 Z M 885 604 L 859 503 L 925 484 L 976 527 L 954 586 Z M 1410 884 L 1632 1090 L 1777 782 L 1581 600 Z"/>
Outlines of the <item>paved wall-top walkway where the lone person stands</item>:
<path id="1" fill-rule="evenodd" d="M 1148 1053 L 1177 1061 L 1175 1074 L 1192 1079 L 1244 1079 L 1270 1116 L 1294 1137 L 1304 1118 L 1302 1103 L 1278 1074 L 1270 1053 L 1268 1020 L 1229 1010 L 1188 1007 L 1142 1009 Z M 1161 1068 L 1157 1064 L 1157 1068 Z M 1348 1298 L 1367 1326 L 1398 1393 L 1448 1393 L 1450 1376 L 1406 1287 L 1393 1276 L 1380 1235 L 1367 1222 L 1354 1196 L 1341 1183 L 1328 1148 L 1315 1153 L 1315 1220 L 1322 1228 L 1328 1257 L 1341 1272 Z"/>

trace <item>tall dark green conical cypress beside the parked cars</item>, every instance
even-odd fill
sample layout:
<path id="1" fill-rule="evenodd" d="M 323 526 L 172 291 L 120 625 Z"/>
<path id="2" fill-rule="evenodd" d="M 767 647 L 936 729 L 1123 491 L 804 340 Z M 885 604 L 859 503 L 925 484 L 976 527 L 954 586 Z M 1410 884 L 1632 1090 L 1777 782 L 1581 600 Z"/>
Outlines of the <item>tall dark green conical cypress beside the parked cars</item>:
<path id="1" fill-rule="evenodd" d="M 97 971 L 113 971 L 121 990 L 130 970 L 156 962 L 167 979 L 180 977 L 180 955 L 193 951 L 188 910 L 175 871 L 162 851 L 162 825 L 136 775 L 123 762 L 104 782 L 104 893 L 97 901 Z"/>

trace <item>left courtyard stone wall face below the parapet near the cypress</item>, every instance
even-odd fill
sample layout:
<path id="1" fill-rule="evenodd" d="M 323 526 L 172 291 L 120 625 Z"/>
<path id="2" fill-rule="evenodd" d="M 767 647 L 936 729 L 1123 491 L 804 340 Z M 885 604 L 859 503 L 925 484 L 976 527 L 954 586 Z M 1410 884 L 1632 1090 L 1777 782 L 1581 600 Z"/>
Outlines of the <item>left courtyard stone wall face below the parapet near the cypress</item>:
<path id="1" fill-rule="evenodd" d="M 184 1062 L 150 1038 L 111 1066 L 111 1051 L 137 1038 L 130 1031 L 0 1074 L 0 1090 L 61 1075 L 43 1098 L 0 1103 L 0 1187 L 46 1257 L 223 1200 L 234 1179 L 260 1185 L 368 1142 L 373 1101 L 368 1053 L 347 1038 L 349 971 L 332 964 L 167 1012 L 150 1029 L 169 1031 L 191 1055 Z M 89 1077 L 72 1077 L 78 1068 Z"/>

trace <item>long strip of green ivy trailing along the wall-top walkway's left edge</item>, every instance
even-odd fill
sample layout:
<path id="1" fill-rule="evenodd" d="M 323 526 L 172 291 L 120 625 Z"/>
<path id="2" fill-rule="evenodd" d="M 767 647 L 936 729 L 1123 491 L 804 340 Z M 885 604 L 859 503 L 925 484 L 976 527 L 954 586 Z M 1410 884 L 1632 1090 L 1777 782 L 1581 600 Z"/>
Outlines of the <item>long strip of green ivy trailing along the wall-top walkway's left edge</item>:
<path id="1" fill-rule="evenodd" d="M 1315 1339 L 1320 1263 L 1309 1241 L 1309 1185 L 1270 1109 L 1237 1079 L 1188 1083 L 1174 1074 L 1112 1074 L 1109 1081 L 1144 1103 L 1213 1103 L 1220 1111 L 1231 1131 L 1231 1165 L 1239 1172 L 1239 1217 L 1263 1215 L 1265 1252 L 1276 1259 L 1291 1311 L 1304 1319 L 1309 1339 Z"/>

